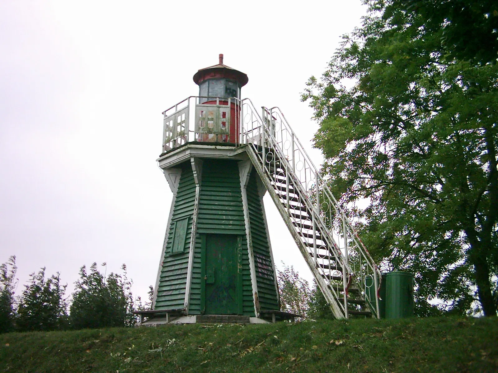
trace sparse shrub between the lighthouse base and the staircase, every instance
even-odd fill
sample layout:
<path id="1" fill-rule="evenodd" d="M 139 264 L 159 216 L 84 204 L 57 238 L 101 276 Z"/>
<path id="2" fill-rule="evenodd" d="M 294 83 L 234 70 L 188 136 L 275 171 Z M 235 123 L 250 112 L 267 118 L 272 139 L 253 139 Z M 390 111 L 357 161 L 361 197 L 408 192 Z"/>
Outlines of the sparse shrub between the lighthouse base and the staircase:
<path id="1" fill-rule="evenodd" d="M 308 281 L 301 279 L 293 266 L 287 267 L 283 262 L 282 265 L 283 271 L 277 270 L 280 308 L 306 317 L 311 295 Z"/>

